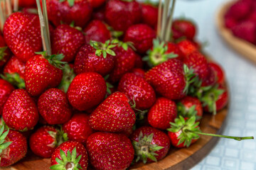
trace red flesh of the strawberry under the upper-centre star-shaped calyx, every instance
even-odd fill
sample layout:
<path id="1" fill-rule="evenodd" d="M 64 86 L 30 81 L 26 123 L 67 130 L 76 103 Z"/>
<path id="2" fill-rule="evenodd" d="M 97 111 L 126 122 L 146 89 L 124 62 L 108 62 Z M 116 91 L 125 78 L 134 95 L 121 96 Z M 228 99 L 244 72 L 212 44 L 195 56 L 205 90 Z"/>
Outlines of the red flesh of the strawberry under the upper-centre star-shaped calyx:
<path id="1" fill-rule="evenodd" d="M 104 58 L 102 55 L 95 55 L 95 48 L 90 45 L 83 45 L 75 57 L 75 74 L 83 72 L 97 72 L 103 77 L 114 69 L 114 56 L 108 55 Z"/>

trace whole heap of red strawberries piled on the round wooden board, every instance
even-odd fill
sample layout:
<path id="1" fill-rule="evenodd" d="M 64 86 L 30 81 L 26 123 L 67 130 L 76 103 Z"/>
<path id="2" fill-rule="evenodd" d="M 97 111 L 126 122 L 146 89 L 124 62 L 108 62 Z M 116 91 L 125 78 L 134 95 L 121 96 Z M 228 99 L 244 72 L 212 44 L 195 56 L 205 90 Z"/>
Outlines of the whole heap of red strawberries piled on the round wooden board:
<path id="1" fill-rule="evenodd" d="M 228 103 L 223 70 L 201 52 L 191 21 L 174 21 L 172 42 L 163 42 L 151 4 L 46 5 L 53 55 L 41 52 L 31 6 L 12 13 L 0 35 L 0 166 L 26 157 L 28 148 L 51 157 L 50 169 L 156 162 L 171 147 L 196 142 L 203 112 Z"/>

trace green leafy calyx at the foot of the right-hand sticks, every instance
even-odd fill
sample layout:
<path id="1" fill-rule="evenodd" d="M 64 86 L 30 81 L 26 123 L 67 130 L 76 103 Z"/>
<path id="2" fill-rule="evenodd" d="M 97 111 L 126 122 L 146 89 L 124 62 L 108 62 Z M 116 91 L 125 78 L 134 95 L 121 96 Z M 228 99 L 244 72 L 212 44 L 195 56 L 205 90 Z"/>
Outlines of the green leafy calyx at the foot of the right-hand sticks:
<path id="1" fill-rule="evenodd" d="M 153 40 L 153 50 L 146 52 L 147 56 L 143 57 L 143 61 L 148 62 L 151 66 L 156 66 L 162 62 L 166 62 L 171 58 L 178 57 L 174 52 L 166 53 L 168 47 L 164 42 L 160 42 L 159 39 Z"/>

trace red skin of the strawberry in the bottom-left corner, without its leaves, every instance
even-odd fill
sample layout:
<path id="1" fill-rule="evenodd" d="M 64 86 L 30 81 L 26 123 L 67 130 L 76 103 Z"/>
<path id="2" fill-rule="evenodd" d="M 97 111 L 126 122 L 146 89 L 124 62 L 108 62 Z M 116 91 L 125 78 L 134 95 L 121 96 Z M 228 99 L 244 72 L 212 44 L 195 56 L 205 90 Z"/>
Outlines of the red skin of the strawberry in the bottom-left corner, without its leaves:
<path id="1" fill-rule="evenodd" d="M 26 141 L 26 137 L 24 137 L 21 132 L 17 132 L 15 130 L 9 130 L 8 135 L 6 136 L 6 142 L 12 142 L 9 147 L 1 152 L 1 166 L 10 166 L 21 160 L 25 157 L 28 145 Z"/>

